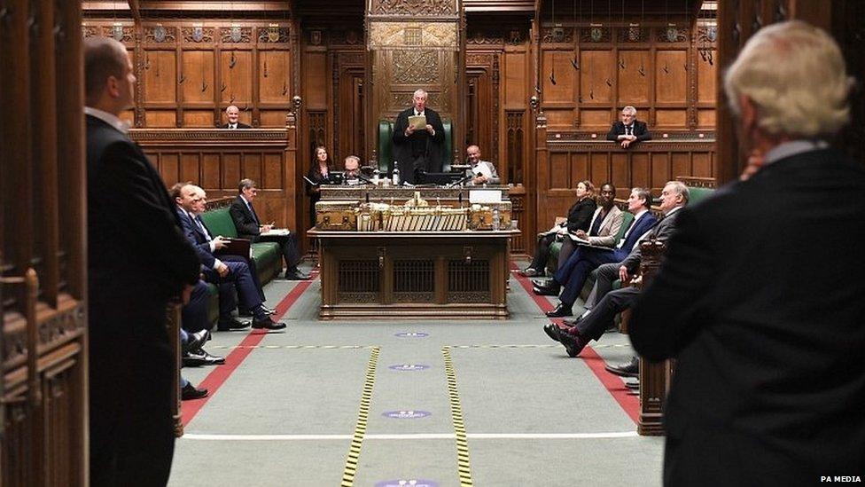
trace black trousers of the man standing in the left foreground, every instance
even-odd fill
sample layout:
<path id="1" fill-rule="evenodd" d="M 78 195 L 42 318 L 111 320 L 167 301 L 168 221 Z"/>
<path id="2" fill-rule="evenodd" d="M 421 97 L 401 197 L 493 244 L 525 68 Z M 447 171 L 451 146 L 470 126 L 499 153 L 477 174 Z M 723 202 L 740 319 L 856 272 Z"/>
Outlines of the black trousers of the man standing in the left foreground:
<path id="1" fill-rule="evenodd" d="M 175 447 L 166 302 L 112 294 L 89 304 L 90 485 L 164 486 Z"/>

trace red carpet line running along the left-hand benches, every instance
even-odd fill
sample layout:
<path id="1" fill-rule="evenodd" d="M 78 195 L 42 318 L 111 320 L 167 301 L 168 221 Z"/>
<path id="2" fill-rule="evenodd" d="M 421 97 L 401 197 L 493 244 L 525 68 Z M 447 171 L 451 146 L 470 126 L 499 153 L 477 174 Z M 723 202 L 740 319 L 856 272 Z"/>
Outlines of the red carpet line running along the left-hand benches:
<path id="1" fill-rule="evenodd" d="M 277 312 L 272 317 L 274 321 L 278 321 L 286 312 L 288 312 L 294 302 L 297 302 L 300 295 L 303 295 L 303 293 L 306 292 L 307 288 L 312 284 L 313 279 L 316 279 L 316 277 L 317 272 L 311 272 L 309 280 L 298 283 L 297 286 L 285 295 L 283 300 L 277 304 Z M 204 381 L 201 381 L 198 386 L 199 388 L 207 389 L 209 392 L 207 397 L 193 399 L 191 401 L 183 401 L 181 404 L 181 416 L 183 417 L 184 428 L 193 418 L 195 418 L 195 415 L 201 411 L 204 405 L 207 405 L 207 401 L 209 401 L 211 397 L 214 397 L 216 391 L 222 387 L 222 384 L 224 384 L 225 381 L 228 381 L 231 374 L 238 369 L 238 366 L 240 366 L 250 352 L 253 351 L 253 347 L 261 343 L 267 335 L 268 332 L 265 331 L 251 330 L 246 334 L 243 341 L 239 343 L 238 348 L 231 350 L 231 353 L 225 357 L 225 364 L 217 366 L 213 371 L 211 371 L 211 373 L 207 374 L 207 377 L 205 377 Z"/>

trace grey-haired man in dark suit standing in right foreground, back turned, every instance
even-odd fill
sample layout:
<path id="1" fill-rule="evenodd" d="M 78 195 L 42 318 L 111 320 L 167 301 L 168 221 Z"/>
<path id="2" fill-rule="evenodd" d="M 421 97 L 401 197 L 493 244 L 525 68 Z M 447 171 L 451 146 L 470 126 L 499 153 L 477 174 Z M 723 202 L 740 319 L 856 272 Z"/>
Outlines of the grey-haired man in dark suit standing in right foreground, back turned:
<path id="1" fill-rule="evenodd" d="M 666 485 L 865 476 L 865 168 L 825 142 L 852 86 L 801 21 L 761 28 L 724 77 L 762 167 L 682 211 L 629 329 L 644 358 L 676 358 Z"/>

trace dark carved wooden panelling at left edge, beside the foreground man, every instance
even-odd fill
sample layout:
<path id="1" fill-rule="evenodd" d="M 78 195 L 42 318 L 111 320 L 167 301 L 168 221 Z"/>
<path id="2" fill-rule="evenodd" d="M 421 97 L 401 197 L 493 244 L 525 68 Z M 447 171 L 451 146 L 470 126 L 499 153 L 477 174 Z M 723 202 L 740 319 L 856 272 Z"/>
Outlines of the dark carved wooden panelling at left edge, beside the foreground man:
<path id="1" fill-rule="evenodd" d="M 0 0 L 0 485 L 86 485 L 78 2 Z"/>

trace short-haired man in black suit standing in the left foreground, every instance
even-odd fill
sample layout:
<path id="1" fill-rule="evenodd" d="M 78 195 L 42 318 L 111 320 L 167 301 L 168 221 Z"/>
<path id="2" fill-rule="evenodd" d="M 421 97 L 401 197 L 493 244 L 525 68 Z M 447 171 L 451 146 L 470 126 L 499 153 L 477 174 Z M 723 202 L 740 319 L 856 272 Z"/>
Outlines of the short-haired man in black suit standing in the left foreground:
<path id="1" fill-rule="evenodd" d="M 199 259 L 159 174 L 118 118 L 133 106 L 136 82 L 123 44 L 85 39 L 84 77 L 90 485 L 165 485 L 176 373 L 166 306 L 188 299 Z"/>

